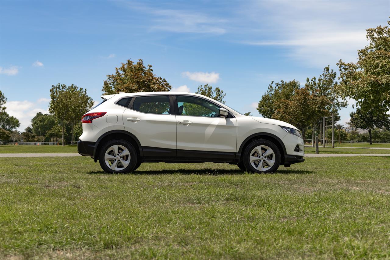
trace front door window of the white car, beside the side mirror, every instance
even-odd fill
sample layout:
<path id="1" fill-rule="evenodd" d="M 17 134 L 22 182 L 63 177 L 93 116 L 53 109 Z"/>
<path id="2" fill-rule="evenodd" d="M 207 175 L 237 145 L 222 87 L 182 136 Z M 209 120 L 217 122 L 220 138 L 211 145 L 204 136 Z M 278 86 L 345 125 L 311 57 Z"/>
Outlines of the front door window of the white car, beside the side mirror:
<path id="1" fill-rule="evenodd" d="M 179 115 L 219 117 L 220 107 L 203 98 L 176 96 L 176 101 L 179 107 Z"/>

